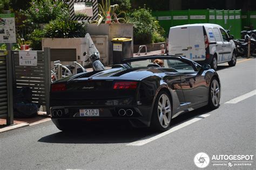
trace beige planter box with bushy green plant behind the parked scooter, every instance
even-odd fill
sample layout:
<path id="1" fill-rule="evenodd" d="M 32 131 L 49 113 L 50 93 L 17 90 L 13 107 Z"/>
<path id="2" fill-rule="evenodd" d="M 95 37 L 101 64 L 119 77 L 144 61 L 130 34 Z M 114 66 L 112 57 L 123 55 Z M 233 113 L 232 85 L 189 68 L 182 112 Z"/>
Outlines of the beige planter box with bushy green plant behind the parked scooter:
<path id="1" fill-rule="evenodd" d="M 51 53 L 56 54 L 56 60 L 62 60 L 66 65 L 74 61 L 84 64 L 84 37 L 87 30 L 83 22 L 55 19 L 45 25 L 43 33 L 42 47 L 50 47 Z"/>

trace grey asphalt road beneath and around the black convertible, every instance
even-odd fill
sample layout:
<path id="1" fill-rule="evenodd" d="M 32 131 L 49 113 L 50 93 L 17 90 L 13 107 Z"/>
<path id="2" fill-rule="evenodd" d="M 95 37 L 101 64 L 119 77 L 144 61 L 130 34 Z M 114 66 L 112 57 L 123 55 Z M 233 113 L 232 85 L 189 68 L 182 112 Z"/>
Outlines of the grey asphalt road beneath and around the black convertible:
<path id="1" fill-rule="evenodd" d="M 244 100 L 236 104 L 226 103 L 256 89 L 255 72 L 256 59 L 239 60 L 235 67 L 220 66 L 220 107 L 214 111 L 200 108 L 183 114 L 173 119 L 171 130 L 163 134 L 125 126 L 63 133 L 51 121 L 1 133 L 0 167 L 198 169 L 194 157 L 204 152 L 210 157 L 207 169 L 256 169 L 256 96 L 238 98 L 237 101 Z M 254 156 L 252 160 L 242 160 L 250 162 L 213 162 L 213 155 Z"/>

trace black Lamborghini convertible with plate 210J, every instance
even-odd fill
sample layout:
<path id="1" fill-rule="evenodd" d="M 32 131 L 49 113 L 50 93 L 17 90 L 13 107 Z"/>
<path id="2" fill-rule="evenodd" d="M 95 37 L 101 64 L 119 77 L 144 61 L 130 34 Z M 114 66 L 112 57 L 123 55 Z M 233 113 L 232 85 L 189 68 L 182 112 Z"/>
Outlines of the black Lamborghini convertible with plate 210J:
<path id="1" fill-rule="evenodd" d="M 219 102 L 217 72 L 179 56 L 124 59 L 109 70 L 55 81 L 50 92 L 51 119 L 62 131 L 111 120 L 165 131 L 179 114 L 206 105 L 215 109 Z"/>

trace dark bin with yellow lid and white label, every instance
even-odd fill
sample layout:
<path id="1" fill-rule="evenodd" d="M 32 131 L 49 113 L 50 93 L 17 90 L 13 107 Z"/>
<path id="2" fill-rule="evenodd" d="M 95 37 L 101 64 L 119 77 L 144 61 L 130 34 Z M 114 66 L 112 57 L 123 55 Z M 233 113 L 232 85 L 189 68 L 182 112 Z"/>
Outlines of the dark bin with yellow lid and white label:
<path id="1" fill-rule="evenodd" d="M 124 58 L 131 58 L 132 53 L 132 38 L 113 38 L 113 64 L 120 64 Z"/>

